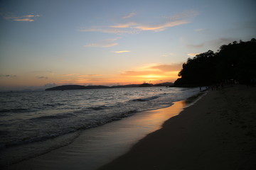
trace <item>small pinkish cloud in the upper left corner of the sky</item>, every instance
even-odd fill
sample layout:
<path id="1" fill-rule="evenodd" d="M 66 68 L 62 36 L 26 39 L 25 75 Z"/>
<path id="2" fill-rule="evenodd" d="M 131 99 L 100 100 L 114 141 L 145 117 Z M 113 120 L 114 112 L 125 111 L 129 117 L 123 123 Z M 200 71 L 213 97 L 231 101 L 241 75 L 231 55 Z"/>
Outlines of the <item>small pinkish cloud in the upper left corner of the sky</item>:
<path id="1" fill-rule="evenodd" d="M 21 21 L 21 22 L 33 22 L 36 20 L 36 18 L 41 16 L 38 14 L 29 14 L 26 16 L 16 16 L 16 15 L 14 15 L 14 13 L 6 12 L 6 11 L 0 11 L 0 15 L 5 20 Z"/>

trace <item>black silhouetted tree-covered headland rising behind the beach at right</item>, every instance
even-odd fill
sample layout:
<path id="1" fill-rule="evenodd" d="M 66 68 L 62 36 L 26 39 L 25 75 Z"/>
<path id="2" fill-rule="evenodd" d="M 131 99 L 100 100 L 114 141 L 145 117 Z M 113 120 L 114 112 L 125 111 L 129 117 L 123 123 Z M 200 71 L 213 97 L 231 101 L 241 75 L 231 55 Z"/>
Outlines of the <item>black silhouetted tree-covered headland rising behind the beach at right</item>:
<path id="1" fill-rule="evenodd" d="M 256 40 L 234 41 L 222 45 L 218 52 L 208 50 L 183 64 L 181 77 L 175 86 L 208 86 L 210 84 L 237 81 L 240 84 L 255 84 Z"/>

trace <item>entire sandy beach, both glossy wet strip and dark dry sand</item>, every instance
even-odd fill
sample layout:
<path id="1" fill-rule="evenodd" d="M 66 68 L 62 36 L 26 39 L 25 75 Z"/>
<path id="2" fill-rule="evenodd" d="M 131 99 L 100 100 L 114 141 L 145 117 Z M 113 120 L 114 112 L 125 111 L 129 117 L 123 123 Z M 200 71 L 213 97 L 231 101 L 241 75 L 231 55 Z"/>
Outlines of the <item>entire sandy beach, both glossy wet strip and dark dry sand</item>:
<path id="1" fill-rule="evenodd" d="M 242 85 L 209 90 L 192 106 L 198 96 L 85 130 L 8 169 L 255 169 L 255 95 Z"/>

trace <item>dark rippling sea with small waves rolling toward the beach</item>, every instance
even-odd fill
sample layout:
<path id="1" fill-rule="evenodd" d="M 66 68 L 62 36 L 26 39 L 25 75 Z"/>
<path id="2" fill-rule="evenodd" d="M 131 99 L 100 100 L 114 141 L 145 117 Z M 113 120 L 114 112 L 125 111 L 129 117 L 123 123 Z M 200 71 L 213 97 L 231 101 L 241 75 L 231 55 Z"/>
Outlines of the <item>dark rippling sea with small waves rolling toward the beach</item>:
<path id="1" fill-rule="evenodd" d="M 138 87 L 0 93 L 0 165 L 70 145 L 82 131 L 169 107 L 198 92 Z"/>

